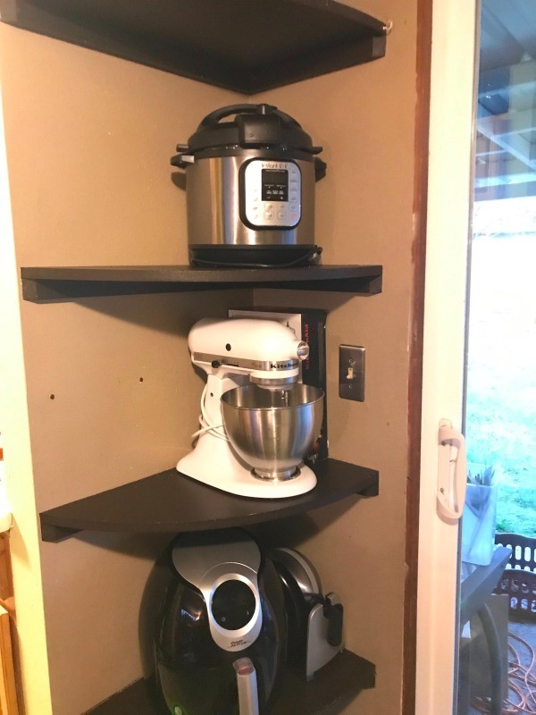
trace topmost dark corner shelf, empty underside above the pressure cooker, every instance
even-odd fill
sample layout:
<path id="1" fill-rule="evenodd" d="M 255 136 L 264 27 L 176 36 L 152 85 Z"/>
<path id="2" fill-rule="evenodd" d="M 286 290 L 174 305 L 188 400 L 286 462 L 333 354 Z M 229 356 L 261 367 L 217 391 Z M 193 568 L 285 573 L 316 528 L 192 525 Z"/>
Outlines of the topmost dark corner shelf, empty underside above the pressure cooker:
<path id="1" fill-rule="evenodd" d="M 385 55 L 383 22 L 333 0 L 0 0 L 2 21 L 252 95 Z"/>

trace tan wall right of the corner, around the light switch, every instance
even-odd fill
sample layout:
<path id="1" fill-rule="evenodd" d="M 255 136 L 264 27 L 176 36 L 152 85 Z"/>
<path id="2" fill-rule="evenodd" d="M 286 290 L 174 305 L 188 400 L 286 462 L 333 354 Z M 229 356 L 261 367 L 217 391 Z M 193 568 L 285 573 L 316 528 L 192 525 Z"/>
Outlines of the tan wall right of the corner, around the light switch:
<path id="1" fill-rule="evenodd" d="M 346 604 L 347 643 L 373 660 L 376 688 L 352 715 L 393 715 L 402 688 L 407 391 L 412 246 L 416 2 L 352 2 L 392 20 L 378 62 L 273 90 L 263 97 L 297 116 L 324 147 L 316 239 L 326 264 L 382 264 L 373 298 L 255 290 L 255 302 L 328 307 L 330 454 L 380 471 L 380 496 L 314 512 L 291 534 Z M 366 348 L 364 403 L 338 396 L 339 344 Z"/>

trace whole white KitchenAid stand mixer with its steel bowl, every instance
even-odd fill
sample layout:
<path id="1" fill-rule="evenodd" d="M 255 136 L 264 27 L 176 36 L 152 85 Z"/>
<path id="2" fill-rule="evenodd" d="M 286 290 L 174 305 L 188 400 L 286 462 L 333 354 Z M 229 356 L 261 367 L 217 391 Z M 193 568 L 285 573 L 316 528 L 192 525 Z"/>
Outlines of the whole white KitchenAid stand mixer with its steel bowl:
<path id="1" fill-rule="evenodd" d="M 300 361 L 309 354 L 306 342 L 273 320 L 205 318 L 190 330 L 188 348 L 207 382 L 201 427 L 193 435 L 197 444 L 180 460 L 179 471 L 249 497 L 313 489 L 312 470 L 297 466 L 320 432 L 323 393 L 306 385 L 299 385 L 299 395 L 293 390 Z"/>

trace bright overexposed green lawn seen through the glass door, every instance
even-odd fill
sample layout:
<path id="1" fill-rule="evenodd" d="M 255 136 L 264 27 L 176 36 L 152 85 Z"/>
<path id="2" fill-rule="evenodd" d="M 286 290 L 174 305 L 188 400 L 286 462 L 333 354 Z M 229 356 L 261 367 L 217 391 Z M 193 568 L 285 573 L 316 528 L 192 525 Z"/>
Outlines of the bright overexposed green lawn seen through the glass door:
<path id="1" fill-rule="evenodd" d="M 465 436 L 497 467 L 497 530 L 536 536 L 534 235 L 473 240 Z"/>

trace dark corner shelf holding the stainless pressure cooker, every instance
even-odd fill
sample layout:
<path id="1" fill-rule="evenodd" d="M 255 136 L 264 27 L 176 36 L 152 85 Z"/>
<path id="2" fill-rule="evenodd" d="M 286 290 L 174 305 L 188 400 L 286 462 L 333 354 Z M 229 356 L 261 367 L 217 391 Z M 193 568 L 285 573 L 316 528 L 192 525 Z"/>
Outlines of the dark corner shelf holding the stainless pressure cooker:
<path id="1" fill-rule="evenodd" d="M 22 297 L 49 303 L 96 296 L 189 290 L 287 288 L 371 296 L 381 292 L 381 265 L 310 265 L 303 268 L 195 268 L 131 265 L 21 268 Z"/>

